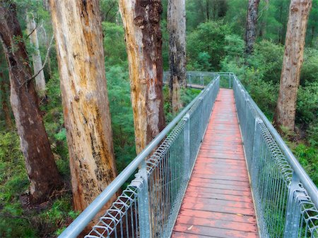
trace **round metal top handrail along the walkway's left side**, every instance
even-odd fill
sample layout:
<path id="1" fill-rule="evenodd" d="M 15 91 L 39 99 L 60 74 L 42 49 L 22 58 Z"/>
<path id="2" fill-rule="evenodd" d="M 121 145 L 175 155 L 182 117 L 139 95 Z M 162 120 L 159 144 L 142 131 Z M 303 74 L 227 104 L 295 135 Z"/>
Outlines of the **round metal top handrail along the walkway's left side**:
<path id="1" fill-rule="evenodd" d="M 141 164 L 145 161 L 154 149 L 158 147 L 160 142 L 167 137 L 167 134 L 179 123 L 179 121 L 189 113 L 192 107 L 200 102 L 202 102 L 202 95 L 206 94 L 208 90 L 211 89 L 211 86 L 214 82 L 218 80 L 219 76 L 213 78 L 213 80 L 208 84 L 208 86 L 200 92 L 198 96 L 187 105 L 173 120 L 169 125 L 165 127 L 154 139 L 151 143 L 146 146 L 141 153 L 134 158 L 129 165 L 122 170 L 122 173 L 119 175 L 105 188 L 105 190 L 96 197 L 96 199 L 90 203 L 90 205 L 80 214 L 78 217 L 73 220 L 73 223 L 66 227 L 66 230 L 62 232 L 59 237 L 77 237 L 78 234 L 90 223 L 91 220 L 95 217 L 95 215 L 100 212 L 100 210 L 105 206 L 105 204 L 112 199 L 112 196 L 122 187 L 124 182 L 129 180 L 129 177 L 133 175 L 137 168 L 140 167 Z M 203 106 L 202 106 L 203 107 Z M 142 165 L 141 165 L 142 166 Z"/>

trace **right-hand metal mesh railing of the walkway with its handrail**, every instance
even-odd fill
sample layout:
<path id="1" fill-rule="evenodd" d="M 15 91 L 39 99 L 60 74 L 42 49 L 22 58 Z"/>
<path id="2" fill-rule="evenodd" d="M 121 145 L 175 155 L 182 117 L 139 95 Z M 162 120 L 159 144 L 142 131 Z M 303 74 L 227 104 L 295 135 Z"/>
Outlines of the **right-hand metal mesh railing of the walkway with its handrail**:
<path id="1" fill-rule="evenodd" d="M 318 237 L 318 189 L 233 74 L 261 237 Z"/>

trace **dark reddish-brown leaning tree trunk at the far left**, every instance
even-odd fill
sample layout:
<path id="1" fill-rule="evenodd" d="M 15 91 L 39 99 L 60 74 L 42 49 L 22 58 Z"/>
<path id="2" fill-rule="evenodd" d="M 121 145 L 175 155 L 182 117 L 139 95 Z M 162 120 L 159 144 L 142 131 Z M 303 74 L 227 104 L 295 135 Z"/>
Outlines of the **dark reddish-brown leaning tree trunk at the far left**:
<path id="1" fill-rule="evenodd" d="M 29 80 L 32 76 L 31 68 L 25 44 L 21 40 L 23 36 L 15 5 L 11 1 L 1 1 L 0 15 L 0 37 L 11 83 L 11 108 L 25 157 L 31 199 L 37 203 L 61 185 L 61 178 L 45 132 L 33 80 Z M 20 41 L 16 42 L 16 39 Z"/>

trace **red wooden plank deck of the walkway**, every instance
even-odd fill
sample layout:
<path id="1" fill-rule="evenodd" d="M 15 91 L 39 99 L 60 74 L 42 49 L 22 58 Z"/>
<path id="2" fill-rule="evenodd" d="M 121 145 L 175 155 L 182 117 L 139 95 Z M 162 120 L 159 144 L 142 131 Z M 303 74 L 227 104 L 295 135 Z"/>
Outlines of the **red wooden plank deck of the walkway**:
<path id="1" fill-rule="evenodd" d="M 220 89 L 172 237 L 258 237 L 231 89 Z"/>

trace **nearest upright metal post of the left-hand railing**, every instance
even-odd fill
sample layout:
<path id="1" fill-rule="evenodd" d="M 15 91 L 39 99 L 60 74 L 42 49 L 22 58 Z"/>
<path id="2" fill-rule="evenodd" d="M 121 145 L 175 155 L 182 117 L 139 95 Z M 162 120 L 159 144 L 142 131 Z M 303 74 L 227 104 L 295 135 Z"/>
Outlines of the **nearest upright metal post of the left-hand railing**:
<path id="1" fill-rule="evenodd" d="M 141 189 L 141 192 L 139 194 L 139 203 L 138 203 L 140 237 L 148 238 L 153 236 L 152 236 L 151 214 L 150 214 L 150 206 L 149 206 L 148 175 L 147 175 L 145 160 L 141 162 L 139 175 L 141 176 L 143 180 L 143 188 Z"/>

